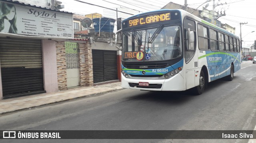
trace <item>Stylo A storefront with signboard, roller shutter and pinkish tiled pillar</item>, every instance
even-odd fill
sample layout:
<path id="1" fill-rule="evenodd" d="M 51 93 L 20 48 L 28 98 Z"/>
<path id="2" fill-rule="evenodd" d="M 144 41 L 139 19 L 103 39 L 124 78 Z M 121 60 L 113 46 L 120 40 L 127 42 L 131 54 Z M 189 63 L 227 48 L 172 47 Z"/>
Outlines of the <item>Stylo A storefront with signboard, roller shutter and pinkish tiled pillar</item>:
<path id="1" fill-rule="evenodd" d="M 56 43 L 74 37 L 72 13 L 8 0 L 0 6 L 10 13 L 0 16 L 0 99 L 58 91 Z"/>

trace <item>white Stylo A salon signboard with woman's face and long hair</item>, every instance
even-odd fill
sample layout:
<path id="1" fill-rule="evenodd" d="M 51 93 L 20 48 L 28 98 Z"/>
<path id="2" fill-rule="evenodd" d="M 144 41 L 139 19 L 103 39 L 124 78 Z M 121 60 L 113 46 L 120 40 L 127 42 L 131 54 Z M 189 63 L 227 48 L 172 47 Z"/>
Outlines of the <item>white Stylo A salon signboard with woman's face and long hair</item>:
<path id="1" fill-rule="evenodd" d="M 72 14 L 0 1 L 0 32 L 73 38 Z"/>

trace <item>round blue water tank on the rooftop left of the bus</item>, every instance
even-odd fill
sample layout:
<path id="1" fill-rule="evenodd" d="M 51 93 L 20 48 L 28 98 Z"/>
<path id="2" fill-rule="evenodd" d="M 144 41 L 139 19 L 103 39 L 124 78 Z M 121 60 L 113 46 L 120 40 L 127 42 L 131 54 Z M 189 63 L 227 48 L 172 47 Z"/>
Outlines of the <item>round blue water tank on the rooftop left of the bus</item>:
<path id="1" fill-rule="evenodd" d="M 112 18 L 94 18 L 92 19 L 95 32 L 110 32 L 114 31 L 115 21 Z"/>

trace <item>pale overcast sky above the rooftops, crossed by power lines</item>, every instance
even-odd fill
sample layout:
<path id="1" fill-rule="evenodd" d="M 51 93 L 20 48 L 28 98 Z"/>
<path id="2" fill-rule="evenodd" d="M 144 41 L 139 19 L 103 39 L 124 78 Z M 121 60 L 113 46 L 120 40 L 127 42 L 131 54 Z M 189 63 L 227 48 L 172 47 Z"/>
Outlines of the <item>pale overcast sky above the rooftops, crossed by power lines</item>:
<path id="1" fill-rule="evenodd" d="M 59 1 L 64 4 L 65 8 L 62 9 L 64 11 L 81 15 L 99 13 L 104 17 L 116 18 L 116 12 L 107 10 L 106 8 L 116 10 L 116 8 L 121 6 L 122 8 L 118 8 L 118 10 L 131 14 L 138 14 L 140 12 L 158 10 L 169 2 L 184 5 L 185 0 L 80 0 L 106 8 L 92 6 L 74 0 Z M 213 0 L 210 0 L 210 2 L 206 2 L 206 0 L 187 0 L 187 2 L 188 7 L 190 8 L 198 8 L 201 4 L 202 6 L 206 6 L 208 3 L 209 6 L 207 9 L 212 10 L 213 6 Z M 240 36 L 240 23 L 248 22 L 248 24 L 242 25 L 242 39 L 244 41 L 243 45 L 245 46 L 254 43 L 254 40 L 256 40 L 255 3 L 255 0 L 215 0 L 215 5 L 219 4 L 219 6 L 216 6 L 215 11 L 223 12 L 225 10 L 226 12 L 226 16 L 222 16 L 218 20 L 222 23 L 231 25 L 232 27 L 236 27 L 236 35 Z M 202 6 L 200 6 L 198 10 L 202 10 Z M 126 18 L 127 16 L 129 15 L 118 12 L 118 17 Z M 255 32 L 251 33 L 252 31 Z"/>

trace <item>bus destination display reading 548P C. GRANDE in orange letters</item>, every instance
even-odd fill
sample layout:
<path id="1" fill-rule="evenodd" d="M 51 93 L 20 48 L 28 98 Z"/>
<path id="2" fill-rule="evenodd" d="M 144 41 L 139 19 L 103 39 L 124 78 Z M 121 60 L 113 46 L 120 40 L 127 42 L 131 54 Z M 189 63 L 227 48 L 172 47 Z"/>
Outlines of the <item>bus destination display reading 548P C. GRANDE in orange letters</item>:
<path id="1" fill-rule="evenodd" d="M 177 11 L 174 12 L 161 12 L 156 14 L 147 14 L 138 16 L 136 18 L 125 20 L 122 23 L 123 28 L 134 27 L 138 25 L 152 24 L 156 22 L 166 22 L 171 20 L 179 20 L 180 14 Z"/>

